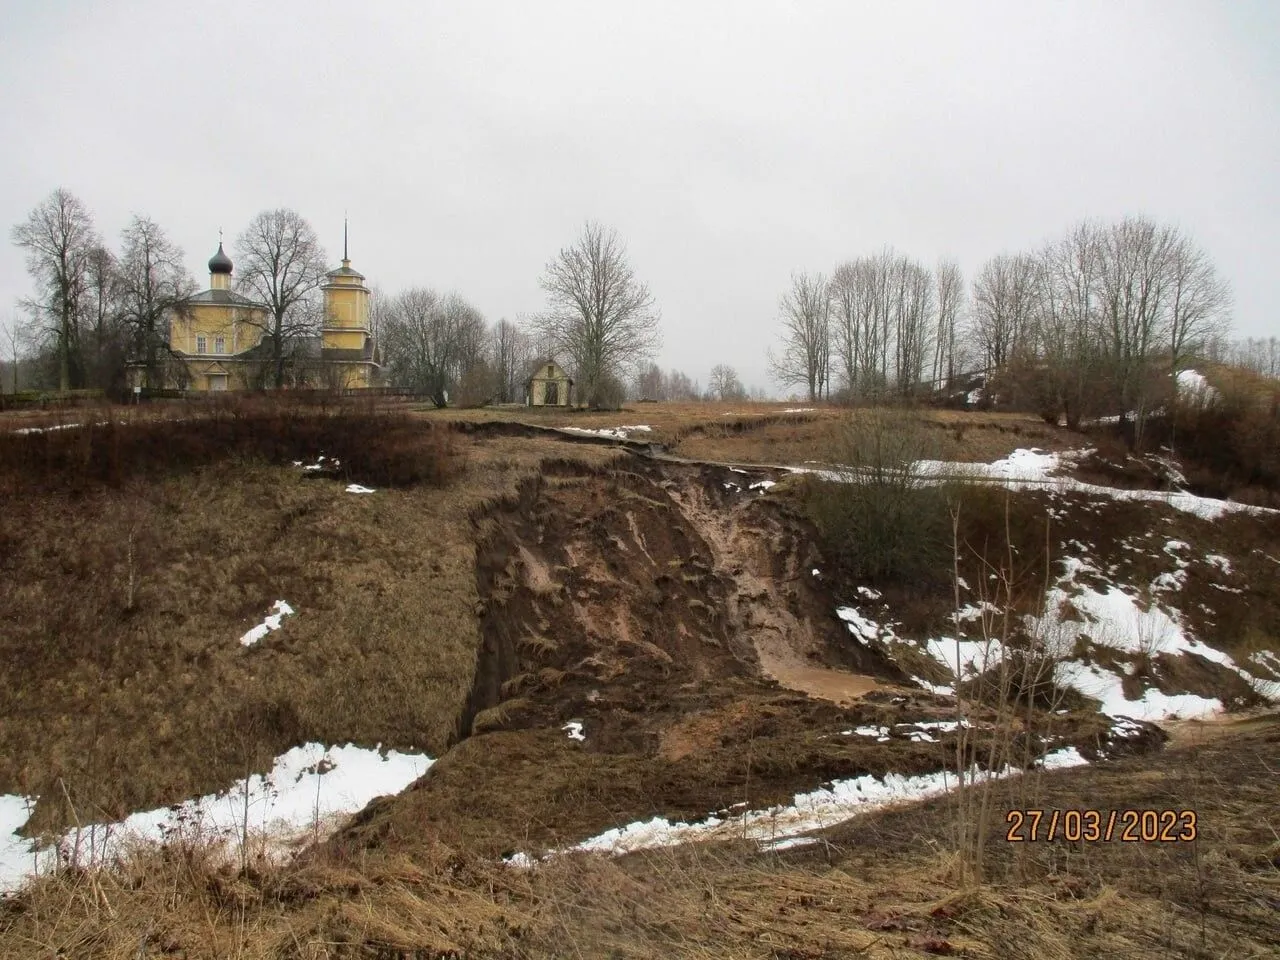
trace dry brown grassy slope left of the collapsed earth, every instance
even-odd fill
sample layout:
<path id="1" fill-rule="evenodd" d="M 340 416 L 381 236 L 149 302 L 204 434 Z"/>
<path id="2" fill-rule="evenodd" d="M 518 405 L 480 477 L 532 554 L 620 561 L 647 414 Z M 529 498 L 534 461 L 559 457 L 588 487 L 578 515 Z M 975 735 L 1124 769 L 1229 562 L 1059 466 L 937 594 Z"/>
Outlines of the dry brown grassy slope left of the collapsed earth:
<path id="1" fill-rule="evenodd" d="M 10 499 L 0 792 L 40 795 L 31 828 L 56 829 L 73 819 L 59 780 L 79 819 L 116 819 L 307 740 L 439 755 L 479 646 L 472 517 L 543 460 L 617 456 L 470 448 L 443 489 L 355 495 L 292 466 L 220 462 Z M 242 648 L 278 599 L 297 614 Z"/>

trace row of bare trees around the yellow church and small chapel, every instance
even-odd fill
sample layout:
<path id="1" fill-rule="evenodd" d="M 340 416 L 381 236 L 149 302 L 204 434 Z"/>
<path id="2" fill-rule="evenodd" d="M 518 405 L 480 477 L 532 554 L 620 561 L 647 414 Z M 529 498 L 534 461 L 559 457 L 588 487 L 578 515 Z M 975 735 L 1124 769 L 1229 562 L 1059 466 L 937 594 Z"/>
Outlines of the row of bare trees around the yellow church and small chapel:
<path id="1" fill-rule="evenodd" d="M 183 251 L 159 224 L 134 216 L 113 251 L 87 207 L 56 189 L 13 228 L 13 242 L 27 253 L 35 287 L 20 303 L 22 334 L 41 385 L 119 390 L 129 364 L 143 370 L 150 387 L 169 379 L 169 324 L 197 284 Z M 262 211 L 239 234 L 232 256 L 237 292 L 266 307 L 257 385 L 314 378 L 307 360 L 315 351 L 306 344 L 323 321 L 329 264 L 311 224 L 292 210 Z M 541 285 L 544 312 L 493 326 L 458 293 L 413 287 L 383 296 L 375 289 L 371 320 L 389 381 L 420 389 L 440 406 L 451 397 L 521 402 L 531 365 L 554 356 L 576 378 L 580 401 L 595 404 L 608 392 L 621 399 L 620 384 L 641 376 L 660 332 L 654 298 L 617 232 L 588 223 L 548 262 Z M 18 330 L 6 333 L 17 376 Z M 663 389 L 690 393 L 678 379 Z"/>

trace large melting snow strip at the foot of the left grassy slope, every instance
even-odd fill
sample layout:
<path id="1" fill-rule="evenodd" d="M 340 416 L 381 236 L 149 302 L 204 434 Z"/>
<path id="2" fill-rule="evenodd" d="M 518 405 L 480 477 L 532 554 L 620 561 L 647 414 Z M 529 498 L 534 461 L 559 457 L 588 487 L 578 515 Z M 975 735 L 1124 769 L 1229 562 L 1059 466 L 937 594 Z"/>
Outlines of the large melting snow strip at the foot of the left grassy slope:
<path id="1" fill-rule="evenodd" d="M 220 794 L 175 806 L 136 813 L 119 823 L 96 824 L 63 837 L 63 856 L 101 864 L 133 842 L 219 837 L 238 842 L 246 820 L 250 842 L 266 837 L 261 851 L 278 856 L 316 832 L 328 835 L 337 822 L 384 794 L 398 794 L 431 767 L 425 754 L 355 746 L 306 744 L 275 759 L 271 772 L 238 781 Z M 50 847 L 35 852 L 14 836 L 29 815 L 27 800 L 0 796 L 0 890 L 14 890 L 37 869 L 55 865 Z M 92 838 L 92 847 L 91 847 Z"/>

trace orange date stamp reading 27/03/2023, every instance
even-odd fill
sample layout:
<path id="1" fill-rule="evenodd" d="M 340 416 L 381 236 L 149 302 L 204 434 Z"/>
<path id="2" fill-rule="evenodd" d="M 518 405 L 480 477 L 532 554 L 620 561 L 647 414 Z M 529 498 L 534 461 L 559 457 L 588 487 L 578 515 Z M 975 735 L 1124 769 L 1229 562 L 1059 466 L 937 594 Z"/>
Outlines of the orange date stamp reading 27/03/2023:
<path id="1" fill-rule="evenodd" d="M 1010 810 L 1005 814 L 1010 844 L 1107 842 L 1190 844 L 1199 827 L 1194 810 Z"/>

